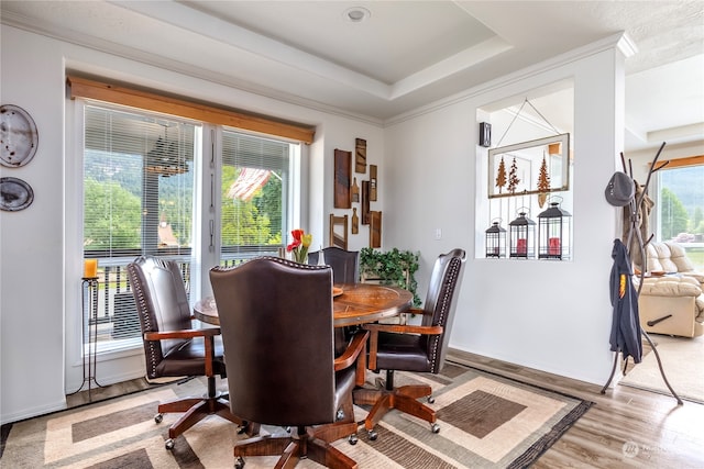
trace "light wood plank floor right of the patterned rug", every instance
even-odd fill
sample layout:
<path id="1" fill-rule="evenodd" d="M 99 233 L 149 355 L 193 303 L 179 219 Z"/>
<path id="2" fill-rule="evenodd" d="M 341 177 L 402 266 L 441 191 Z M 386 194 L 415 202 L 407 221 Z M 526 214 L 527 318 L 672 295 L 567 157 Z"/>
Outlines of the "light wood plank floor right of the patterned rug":
<path id="1" fill-rule="evenodd" d="M 448 359 L 595 402 L 532 468 L 704 468 L 702 404 L 625 386 L 602 394 L 602 386 L 459 350 Z"/>

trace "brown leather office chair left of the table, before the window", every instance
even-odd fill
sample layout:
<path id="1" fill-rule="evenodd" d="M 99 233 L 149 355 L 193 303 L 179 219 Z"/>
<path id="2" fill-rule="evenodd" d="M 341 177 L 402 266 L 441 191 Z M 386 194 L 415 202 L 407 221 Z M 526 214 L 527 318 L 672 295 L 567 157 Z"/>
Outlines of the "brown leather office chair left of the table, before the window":
<path id="1" fill-rule="evenodd" d="M 178 265 L 173 260 L 142 256 L 128 265 L 128 276 L 136 303 L 146 376 L 208 377 L 208 394 L 186 398 L 158 405 L 156 423 L 164 413 L 184 412 L 169 428 L 166 449 L 174 448 L 174 438 L 209 414 L 243 425 L 230 413 L 230 403 L 216 390 L 216 375 L 224 378 L 222 343 L 216 340 L 219 327 L 193 328 L 190 305 Z"/>

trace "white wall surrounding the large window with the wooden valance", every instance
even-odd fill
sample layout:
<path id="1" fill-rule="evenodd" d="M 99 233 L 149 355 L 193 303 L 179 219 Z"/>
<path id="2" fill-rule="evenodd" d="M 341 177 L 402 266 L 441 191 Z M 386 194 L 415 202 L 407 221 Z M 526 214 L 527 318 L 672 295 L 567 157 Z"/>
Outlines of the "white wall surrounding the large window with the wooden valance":
<path id="1" fill-rule="evenodd" d="M 384 157 L 378 126 L 202 81 L 147 64 L 78 47 L 19 29 L 1 29 L 2 104 L 16 104 L 36 121 L 38 150 L 22 168 L 2 176 L 26 180 L 34 203 L 24 211 L 0 212 L 0 412 L 1 422 L 65 407 L 65 393 L 82 382 L 76 336 L 80 314 L 80 165 L 73 143 L 73 102 L 66 100 L 65 68 L 133 82 L 279 119 L 317 126 L 309 146 L 308 206 L 314 243 L 327 244 L 332 209 L 333 149 L 354 150 L 367 141 L 367 164 Z M 66 111 L 66 112 L 65 112 Z M 369 171 L 367 171 L 369 175 Z M 383 210 L 383 201 L 376 209 Z M 336 210 L 336 212 L 343 212 Z M 348 211 L 351 215 L 351 211 Z M 369 232 L 351 237 L 366 245 Z M 207 260 L 204 260 L 206 263 Z M 207 266 L 202 269 L 207 270 Z M 204 288 L 205 292 L 209 286 Z M 65 344 L 65 342 L 67 342 Z M 98 381 L 143 376 L 142 353 L 98 358 Z"/>

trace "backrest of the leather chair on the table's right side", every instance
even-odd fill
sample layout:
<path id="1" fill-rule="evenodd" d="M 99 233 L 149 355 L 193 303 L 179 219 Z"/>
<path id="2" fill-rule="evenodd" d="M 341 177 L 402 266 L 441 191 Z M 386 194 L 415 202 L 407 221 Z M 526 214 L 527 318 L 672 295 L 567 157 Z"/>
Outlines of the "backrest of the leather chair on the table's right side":
<path id="1" fill-rule="evenodd" d="M 444 364 L 465 260 L 464 249 L 453 249 L 448 254 L 441 254 L 438 256 L 430 275 L 430 283 L 424 304 L 424 311 L 430 314 L 424 314 L 422 325 L 441 325 L 443 327 L 442 334 L 428 336 L 428 359 L 431 364 L 430 371 L 433 373 L 439 372 Z"/>

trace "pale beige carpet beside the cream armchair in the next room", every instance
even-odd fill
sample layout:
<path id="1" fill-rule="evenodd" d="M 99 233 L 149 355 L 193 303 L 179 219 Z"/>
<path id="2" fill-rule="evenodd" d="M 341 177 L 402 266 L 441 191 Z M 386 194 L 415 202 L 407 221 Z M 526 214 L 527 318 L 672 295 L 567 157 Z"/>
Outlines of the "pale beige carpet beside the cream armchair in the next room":
<path id="1" fill-rule="evenodd" d="M 651 334 L 650 339 L 656 343 L 664 375 L 674 392 L 683 400 L 704 404 L 704 336 L 689 338 Z M 671 395 L 652 351 L 619 384 Z"/>

